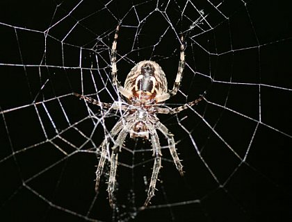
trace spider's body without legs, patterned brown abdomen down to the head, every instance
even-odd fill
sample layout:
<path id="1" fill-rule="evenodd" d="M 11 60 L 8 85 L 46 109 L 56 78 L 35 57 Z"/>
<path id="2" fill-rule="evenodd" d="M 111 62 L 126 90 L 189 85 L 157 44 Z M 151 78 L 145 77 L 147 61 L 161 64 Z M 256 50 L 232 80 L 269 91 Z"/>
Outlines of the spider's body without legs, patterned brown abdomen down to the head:
<path id="1" fill-rule="evenodd" d="M 128 103 L 133 105 L 130 112 L 133 112 L 134 125 L 130 130 L 130 137 L 149 139 L 147 124 L 156 118 L 153 107 L 156 104 L 155 97 L 168 91 L 165 74 L 154 61 L 138 62 L 127 75 L 124 89 L 132 94 L 127 99 Z"/>

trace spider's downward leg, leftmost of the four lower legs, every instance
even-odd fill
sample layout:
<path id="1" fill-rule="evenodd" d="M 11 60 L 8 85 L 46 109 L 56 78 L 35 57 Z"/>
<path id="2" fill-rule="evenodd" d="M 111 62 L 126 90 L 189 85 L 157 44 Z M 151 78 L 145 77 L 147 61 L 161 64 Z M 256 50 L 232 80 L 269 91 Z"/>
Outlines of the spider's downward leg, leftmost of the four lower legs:
<path id="1" fill-rule="evenodd" d="M 96 178 L 96 182 L 95 182 L 95 191 L 98 191 L 99 188 L 99 181 L 100 181 L 100 177 L 102 176 L 102 171 L 104 169 L 104 163 L 106 161 L 106 153 L 107 153 L 107 148 L 106 145 L 108 144 L 108 141 L 115 137 L 115 135 L 117 135 L 117 133 L 120 132 L 120 130 L 122 130 L 123 127 L 123 122 L 122 119 L 120 119 L 120 121 L 118 121 L 115 126 L 113 127 L 113 129 L 111 130 L 111 132 L 109 133 L 109 136 L 104 139 L 104 141 L 102 142 L 102 154 L 100 155 L 100 159 L 99 159 L 99 163 L 97 166 L 97 171 L 95 172 L 97 178 Z"/>

